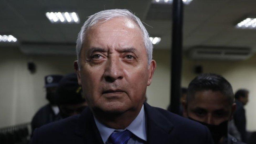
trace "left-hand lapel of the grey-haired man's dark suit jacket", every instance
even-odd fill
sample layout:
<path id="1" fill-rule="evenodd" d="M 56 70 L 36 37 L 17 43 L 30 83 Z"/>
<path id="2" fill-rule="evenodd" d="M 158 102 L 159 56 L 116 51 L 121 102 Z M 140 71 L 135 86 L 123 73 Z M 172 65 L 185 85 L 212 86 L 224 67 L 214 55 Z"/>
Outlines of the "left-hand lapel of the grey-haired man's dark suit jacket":
<path id="1" fill-rule="evenodd" d="M 93 114 L 86 108 L 79 117 L 76 134 L 83 137 L 84 143 L 103 144 Z"/>

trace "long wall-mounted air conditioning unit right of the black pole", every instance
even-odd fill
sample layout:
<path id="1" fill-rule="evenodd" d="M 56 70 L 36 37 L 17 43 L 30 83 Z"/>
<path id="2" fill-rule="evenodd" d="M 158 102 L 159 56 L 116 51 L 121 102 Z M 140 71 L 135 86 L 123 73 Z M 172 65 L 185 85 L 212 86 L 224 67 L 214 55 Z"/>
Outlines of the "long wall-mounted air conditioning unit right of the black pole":
<path id="1" fill-rule="evenodd" d="M 246 60 L 252 56 L 250 48 L 238 47 L 193 47 L 189 57 L 195 60 Z"/>

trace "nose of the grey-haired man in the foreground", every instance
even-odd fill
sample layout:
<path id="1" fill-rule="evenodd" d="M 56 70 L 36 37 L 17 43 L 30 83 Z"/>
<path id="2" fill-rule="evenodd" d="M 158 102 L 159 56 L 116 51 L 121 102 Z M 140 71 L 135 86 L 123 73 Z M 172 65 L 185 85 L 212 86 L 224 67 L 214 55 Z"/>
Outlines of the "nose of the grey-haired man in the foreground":
<path id="1" fill-rule="evenodd" d="M 118 57 L 111 57 L 109 58 L 108 62 L 106 63 L 106 69 L 104 73 L 104 79 L 106 82 L 114 82 L 117 79 L 122 79 L 123 70 L 122 64 Z"/>

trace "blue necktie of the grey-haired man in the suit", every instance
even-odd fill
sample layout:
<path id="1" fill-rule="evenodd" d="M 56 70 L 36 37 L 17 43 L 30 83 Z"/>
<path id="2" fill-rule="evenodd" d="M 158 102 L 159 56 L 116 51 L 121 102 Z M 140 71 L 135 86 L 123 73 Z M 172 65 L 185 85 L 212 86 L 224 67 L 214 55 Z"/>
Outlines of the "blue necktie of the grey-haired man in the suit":
<path id="1" fill-rule="evenodd" d="M 129 130 L 125 130 L 122 132 L 113 132 L 109 138 L 113 144 L 127 144 L 131 136 L 132 133 Z"/>

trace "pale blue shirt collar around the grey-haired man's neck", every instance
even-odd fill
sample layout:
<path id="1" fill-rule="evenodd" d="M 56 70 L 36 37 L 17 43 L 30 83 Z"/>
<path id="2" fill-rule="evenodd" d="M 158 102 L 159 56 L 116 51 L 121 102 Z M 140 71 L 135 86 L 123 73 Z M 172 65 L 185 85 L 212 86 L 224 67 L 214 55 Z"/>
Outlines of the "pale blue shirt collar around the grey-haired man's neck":
<path id="1" fill-rule="evenodd" d="M 109 128 L 102 123 L 100 123 L 95 117 L 95 124 L 100 132 L 100 136 L 103 140 L 103 143 L 106 143 L 109 136 L 115 131 L 115 129 Z M 146 135 L 146 120 L 145 120 L 145 111 L 144 111 L 144 105 L 142 105 L 142 108 L 140 110 L 140 113 L 137 115 L 137 117 L 131 122 L 129 126 L 127 126 L 124 130 L 129 130 L 137 137 L 141 138 L 144 141 L 147 141 L 147 135 Z M 122 130 L 121 130 L 122 131 Z"/>

